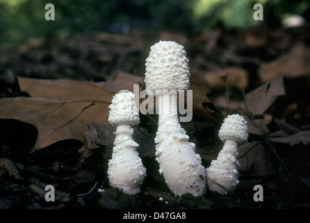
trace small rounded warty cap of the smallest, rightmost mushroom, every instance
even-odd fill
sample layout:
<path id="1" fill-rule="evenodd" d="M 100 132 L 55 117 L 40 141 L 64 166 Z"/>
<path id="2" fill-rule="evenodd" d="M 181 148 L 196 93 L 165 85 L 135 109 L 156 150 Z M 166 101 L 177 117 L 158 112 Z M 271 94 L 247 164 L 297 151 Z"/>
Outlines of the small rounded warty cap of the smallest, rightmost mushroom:
<path id="1" fill-rule="evenodd" d="M 247 121 L 238 114 L 227 116 L 218 132 L 220 140 L 232 139 L 238 142 L 238 145 L 247 143 Z"/>

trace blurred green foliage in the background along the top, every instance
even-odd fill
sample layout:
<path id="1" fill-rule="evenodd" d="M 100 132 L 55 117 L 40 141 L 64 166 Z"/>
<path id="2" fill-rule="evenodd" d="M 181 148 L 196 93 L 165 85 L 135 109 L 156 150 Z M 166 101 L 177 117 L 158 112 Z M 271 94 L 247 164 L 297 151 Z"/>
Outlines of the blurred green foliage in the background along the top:
<path id="1" fill-rule="evenodd" d="M 55 6 L 47 21 L 44 6 Z M 222 24 L 242 29 L 257 24 L 254 3 L 275 8 L 278 15 L 309 15 L 308 0 L 0 0 L 0 44 L 28 38 L 63 38 L 74 33 L 108 31 L 111 24 L 131 29 L 206 31 Z"/>

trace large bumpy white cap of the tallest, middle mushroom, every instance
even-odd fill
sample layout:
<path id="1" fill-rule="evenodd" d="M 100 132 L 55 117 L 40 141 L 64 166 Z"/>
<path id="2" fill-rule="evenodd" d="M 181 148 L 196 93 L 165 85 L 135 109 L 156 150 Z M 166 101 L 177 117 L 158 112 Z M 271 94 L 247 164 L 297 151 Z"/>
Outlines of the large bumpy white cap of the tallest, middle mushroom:
<path id="1" fill-rule="evenodd" d="M 187 90 L 190 84 L 188 59 L 182 45 L 159 41 L 151 47 L 146 59 L 145 85 L 147 90 Z"/>

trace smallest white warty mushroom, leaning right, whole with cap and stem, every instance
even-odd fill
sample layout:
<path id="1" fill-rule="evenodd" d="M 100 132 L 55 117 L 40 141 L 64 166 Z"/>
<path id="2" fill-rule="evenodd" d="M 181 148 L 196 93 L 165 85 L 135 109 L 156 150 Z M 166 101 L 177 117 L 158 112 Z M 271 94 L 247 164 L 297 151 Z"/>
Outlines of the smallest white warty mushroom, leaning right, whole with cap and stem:
<path id="1" fill-rule="evenodd" d="M 247 121 L 238 114 L 227 116 L 218 136 L 224 142 L 224 146 L 217 160 L 212 160 L 210 167 L 206 169 L 206 182 L 209 190 L 223 195 L 228 191 L 234 192 L 239 183 L 238 145 L 247 142 Z"/>

